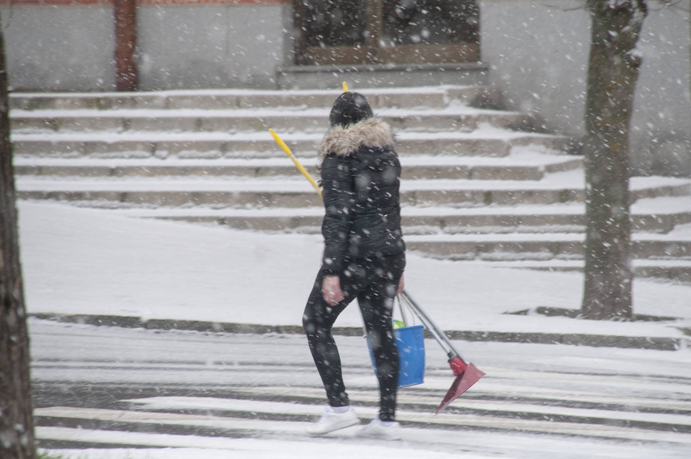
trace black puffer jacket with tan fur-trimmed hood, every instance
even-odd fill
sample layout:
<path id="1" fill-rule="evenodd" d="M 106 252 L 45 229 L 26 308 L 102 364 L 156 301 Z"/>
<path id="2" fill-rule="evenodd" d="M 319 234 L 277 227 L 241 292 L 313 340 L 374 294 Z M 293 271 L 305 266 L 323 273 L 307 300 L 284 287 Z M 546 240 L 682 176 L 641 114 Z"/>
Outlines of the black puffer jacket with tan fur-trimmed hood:
<path id="1" fill-rule="evenodd" d="M 388 124 L 368 118 L 333 127 L 320 155 L 325 207 L 322 271 L 341 274 L 350 260 L 404 252 L 401 164 Z"/>

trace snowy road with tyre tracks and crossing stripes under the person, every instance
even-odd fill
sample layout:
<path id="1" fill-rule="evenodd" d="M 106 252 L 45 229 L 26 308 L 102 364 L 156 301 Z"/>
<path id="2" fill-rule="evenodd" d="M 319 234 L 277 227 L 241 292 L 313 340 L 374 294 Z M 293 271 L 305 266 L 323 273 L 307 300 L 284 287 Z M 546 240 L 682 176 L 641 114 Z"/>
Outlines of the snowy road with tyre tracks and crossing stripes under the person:
<path id="1" fill-rule="evenodd" d="M 429 342 L 424 384 L 399 391 L 404 440 L 385 442 L 359 438 L 359 427 L 305 435 L 324 395 L 299 335 L 37 319 L 30 330 L 37 435 L 79 442 L 51 447 L 73 458 L 691 457 L 687 350 L 459 341 L 487 375 L 435 415 L 453 375 Z M 361 337 L 337 341 L 367 422 L 377 400 L 367 348 Z"/>

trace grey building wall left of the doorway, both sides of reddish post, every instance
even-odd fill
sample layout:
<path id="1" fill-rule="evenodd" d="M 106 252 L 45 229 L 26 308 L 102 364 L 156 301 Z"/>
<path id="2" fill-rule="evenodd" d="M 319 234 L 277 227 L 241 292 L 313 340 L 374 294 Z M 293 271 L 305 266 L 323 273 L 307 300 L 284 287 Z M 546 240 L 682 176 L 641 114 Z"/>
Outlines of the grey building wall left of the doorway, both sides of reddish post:
<path id="1" fill-rule="evenodd" d="M 276 87 L 289 0 L 138 0 L 140 89 Z M 2 0 L 10 87 L 113 91 L 112 0 Z"/>

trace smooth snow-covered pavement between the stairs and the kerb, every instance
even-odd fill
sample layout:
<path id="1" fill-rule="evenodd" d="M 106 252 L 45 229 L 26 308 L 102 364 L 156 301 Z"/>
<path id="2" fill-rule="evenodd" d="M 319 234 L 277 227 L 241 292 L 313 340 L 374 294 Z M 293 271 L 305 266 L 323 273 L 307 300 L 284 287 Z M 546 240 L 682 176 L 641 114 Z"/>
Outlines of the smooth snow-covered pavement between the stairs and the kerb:
<path id="1" fill-rule="evenodd" d="M 46 203 L 21 203 L 19 213 L 30 312 L 299 325 L 321 258 L 321 236 L 137 220 Z M 680 333 L 668 324 L 502 314 L 580 308 L 577 273 L 408 254 L 406 290 L 445 330 Z M 691 286 L 636 280 L 634 311 L 691 319 Z M 345 310 L 337 326 L 361 326 L 357 308 Z"/>

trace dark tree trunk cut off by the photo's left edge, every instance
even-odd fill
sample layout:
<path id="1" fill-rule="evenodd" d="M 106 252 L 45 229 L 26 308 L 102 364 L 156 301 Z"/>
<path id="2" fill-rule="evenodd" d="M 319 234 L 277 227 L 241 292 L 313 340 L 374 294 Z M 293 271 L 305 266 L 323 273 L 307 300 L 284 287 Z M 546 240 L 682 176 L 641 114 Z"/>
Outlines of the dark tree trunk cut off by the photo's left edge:
<path id="1" fill-rule="evenodd" d="M 5 43 L 0 30 L 0 458 L 35 459 Z"/>

